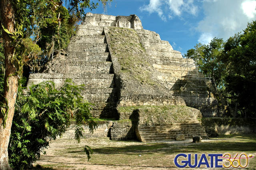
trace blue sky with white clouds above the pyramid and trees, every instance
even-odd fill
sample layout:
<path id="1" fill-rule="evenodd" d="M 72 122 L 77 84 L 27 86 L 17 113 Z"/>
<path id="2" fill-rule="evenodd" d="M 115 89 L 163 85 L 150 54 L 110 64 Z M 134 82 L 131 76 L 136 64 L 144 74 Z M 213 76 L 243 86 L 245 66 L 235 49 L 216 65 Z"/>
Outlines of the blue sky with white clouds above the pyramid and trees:
<path id="1" fill-rule="evenodd" d="M 197 43 L 207 44 L 214 37 L 227 40 L 241 32 L 256 20 L 256 0 L 113 0 L 106 12 L 102 5 L 88 12 L 136 14 L 144 29 L 184 54 Z"/>

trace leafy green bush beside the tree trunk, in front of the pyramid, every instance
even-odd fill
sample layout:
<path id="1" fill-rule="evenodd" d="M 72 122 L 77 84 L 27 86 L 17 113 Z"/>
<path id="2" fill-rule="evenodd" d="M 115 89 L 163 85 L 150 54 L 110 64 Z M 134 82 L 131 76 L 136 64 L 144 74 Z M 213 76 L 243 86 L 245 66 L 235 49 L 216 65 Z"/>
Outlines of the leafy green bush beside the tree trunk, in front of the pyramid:
<path id="1" fill-rule="evenodd" d="M 80 95 L 82 85 L 67 80 L 56 89 L 51 81 L 32 85 L 28 95 L 20 95 L 16 102 L 8 148 L 9 163 L 14 169 L 32 165 L 51 140 L 62 136 L 70 120 L 76 121 L 75 135 L 78 142 L 82 136 L 82 124 L 88 123 L 90 131 L 96 123 L 90 115 L 90 103 Z M 90 148 L 86 146 L 90 158 Z"/>

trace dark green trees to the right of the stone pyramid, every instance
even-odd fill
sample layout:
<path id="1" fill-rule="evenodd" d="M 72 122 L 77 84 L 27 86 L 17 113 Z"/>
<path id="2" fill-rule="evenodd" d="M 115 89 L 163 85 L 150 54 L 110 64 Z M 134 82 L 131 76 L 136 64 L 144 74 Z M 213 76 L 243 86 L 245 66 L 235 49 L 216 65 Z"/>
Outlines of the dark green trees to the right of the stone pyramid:
<path id="1" fill-rule="evenodd" d="M 208 45 L 197 44 L 186 57 L 192 58 L 206 75 L 211 75 L 216 90 L 226 98 L 230 113 L 236 117 L 256 115 L 256 21 L 243 33 L 225 43 L 214 38 Z M 223 99 L 220 97 L 220 99 Z"/>

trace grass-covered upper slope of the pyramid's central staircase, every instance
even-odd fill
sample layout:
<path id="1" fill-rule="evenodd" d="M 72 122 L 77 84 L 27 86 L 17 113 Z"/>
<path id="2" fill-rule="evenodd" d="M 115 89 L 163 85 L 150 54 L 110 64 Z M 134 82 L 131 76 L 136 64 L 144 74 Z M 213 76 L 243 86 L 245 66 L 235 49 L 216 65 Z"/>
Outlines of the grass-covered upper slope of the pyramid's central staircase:
<path id="1" fill-rule="evenodd" d="M 120 71 L 141 84 L 157 85 L 152 79 L 152 65 L 146 49 L 134 29 L 110 27 L 108 47 L 120 64 Z"/>

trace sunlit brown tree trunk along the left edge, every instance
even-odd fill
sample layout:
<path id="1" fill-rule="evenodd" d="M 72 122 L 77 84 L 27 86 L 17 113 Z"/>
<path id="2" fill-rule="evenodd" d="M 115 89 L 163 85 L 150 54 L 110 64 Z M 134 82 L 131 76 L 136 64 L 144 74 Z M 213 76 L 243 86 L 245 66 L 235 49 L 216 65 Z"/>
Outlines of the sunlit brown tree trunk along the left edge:
<path id="1" fill-rule="evenodd" d="M 2 24 L 9 32 L 14 32 L 14 8 L 11 0 L 1 0 L 0 7 Z M 8 144 L 11 134 L 12 118 L 14 116 L 14 104 L 17 96 L 18 77 L 15 75 L 16 70 L 10 59 L 14 53 L 14 47 L 11 46 L 12 40 L 4 30 L 2 30 L 2 36 L 5 56 L 4 94 L 2 103 L 4 103 L 8 109 L 1 107 L 0 112 L 0 170 L 9 170 L 11 168 L 8 163 Z M 4 120 L 5 117 L 7 117 L 6 120 Z"/>

